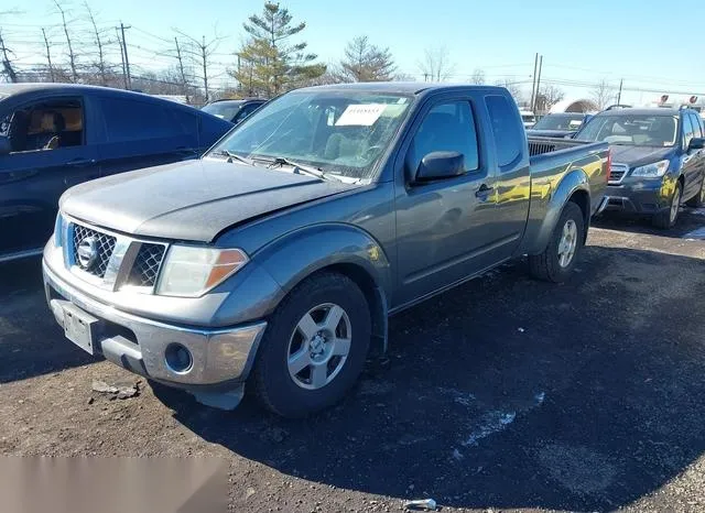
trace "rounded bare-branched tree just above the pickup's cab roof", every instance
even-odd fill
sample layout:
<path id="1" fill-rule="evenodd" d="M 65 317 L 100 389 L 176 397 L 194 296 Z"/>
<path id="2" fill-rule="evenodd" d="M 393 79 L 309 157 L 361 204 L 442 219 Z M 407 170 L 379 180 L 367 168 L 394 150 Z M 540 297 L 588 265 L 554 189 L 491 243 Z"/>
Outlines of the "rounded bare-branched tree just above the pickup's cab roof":
<path id="1" fill-rule="evenodd" d="M 367 35 L 360 35 L 345 47 L 340 68 L 341 81 L 387 81 L 394 76 L 397 66 L 389 48 L 375 46 Z"/>

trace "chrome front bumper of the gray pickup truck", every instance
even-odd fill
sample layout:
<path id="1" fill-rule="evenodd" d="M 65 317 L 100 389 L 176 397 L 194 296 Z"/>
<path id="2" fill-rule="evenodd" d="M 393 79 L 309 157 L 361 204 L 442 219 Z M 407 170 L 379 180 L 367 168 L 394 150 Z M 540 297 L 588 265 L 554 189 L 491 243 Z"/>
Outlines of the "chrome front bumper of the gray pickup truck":
<path id="1" fill-rule="evenodd" d="M 99 319 L 95 350 L 111 362 L 145 378 L 188 390 L 227 390 L 243 382 L 252 368 L 267 323 L 234 328 L 194 328 L 135 316 L 96 301 L 59 277 L 43 262 L 47 303 L 63 326 L 62 302 L 70 302 Z M 177 342 L 192 356 L 186 372 L 175 372 L 165 358 Z"/>

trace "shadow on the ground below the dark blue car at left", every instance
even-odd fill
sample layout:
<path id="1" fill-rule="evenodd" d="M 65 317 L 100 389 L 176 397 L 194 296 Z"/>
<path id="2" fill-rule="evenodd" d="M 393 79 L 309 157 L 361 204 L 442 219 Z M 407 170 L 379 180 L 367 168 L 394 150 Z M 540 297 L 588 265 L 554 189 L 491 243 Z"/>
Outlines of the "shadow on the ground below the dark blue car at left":
<path id="1" fill-rule="evenodd" d="M 0 264 L 0 383 L 95 361 L 67 342 L 46 306 L 41 258 Z"/>

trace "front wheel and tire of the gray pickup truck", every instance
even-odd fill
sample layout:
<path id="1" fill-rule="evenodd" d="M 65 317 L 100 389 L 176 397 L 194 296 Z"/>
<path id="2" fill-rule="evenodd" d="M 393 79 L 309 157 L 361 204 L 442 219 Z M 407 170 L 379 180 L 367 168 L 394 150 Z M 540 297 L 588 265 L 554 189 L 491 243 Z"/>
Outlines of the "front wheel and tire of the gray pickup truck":
<path id="1" fill-rule="evenodd" d="M 330 318 L 337 316 L 336 324 Z M 352 280 L 329 272 L 308 277 L 269 319 L 250 376 L 257 399 L 284 417 L 303 417 L 336 404 L 362 371 L 370 337 L 369 305 Z M 345 347 L 344 358 L 338 353 Z M 307 365 L 296 373 L 303 363 Z"/>

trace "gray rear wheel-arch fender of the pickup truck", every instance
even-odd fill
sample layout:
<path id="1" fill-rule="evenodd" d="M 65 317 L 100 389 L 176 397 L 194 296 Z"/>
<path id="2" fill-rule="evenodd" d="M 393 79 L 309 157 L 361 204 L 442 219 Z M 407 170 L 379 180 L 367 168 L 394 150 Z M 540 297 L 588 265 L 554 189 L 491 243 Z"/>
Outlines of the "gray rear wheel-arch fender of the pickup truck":
<path id="1" fill-rule="evenodd" d="M 584 190 L 589 197 L 590 184 L 587 174 L 583 170 L 574 168 L 563 176 L 551 193 L 544 207 L 540 209 L 543 216 L 531 219 L 533 216 L 530 215 L 530 226 L 527 227 L 523 253 L 539 254 L 543 252 L 563 212 L 563 207 L 565 207 L 571 196 L 578 190 Z M 533 205 L 531 209 L 534 209 Z"/>

